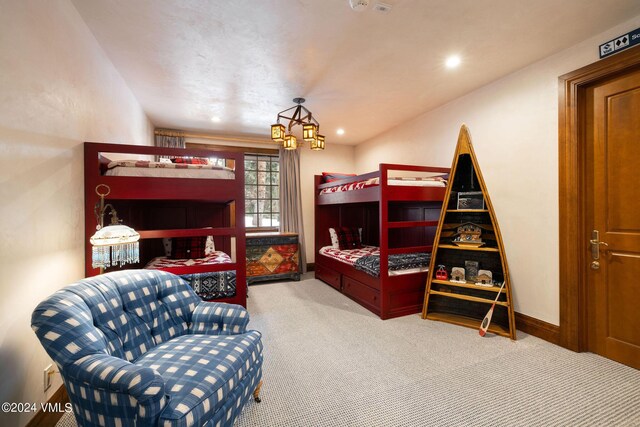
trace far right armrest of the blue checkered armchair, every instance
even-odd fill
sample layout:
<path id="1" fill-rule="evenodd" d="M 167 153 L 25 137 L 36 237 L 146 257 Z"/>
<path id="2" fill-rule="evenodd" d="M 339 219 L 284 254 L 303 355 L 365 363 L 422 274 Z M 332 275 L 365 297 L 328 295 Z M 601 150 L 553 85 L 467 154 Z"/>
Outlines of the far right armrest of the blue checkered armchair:
<path id="1" fill-rule="evenodd" d="M 247 330 L 249 313 L 237 304 L 201 302 L 193 311 L 190 334 L 235 335 Z"/>

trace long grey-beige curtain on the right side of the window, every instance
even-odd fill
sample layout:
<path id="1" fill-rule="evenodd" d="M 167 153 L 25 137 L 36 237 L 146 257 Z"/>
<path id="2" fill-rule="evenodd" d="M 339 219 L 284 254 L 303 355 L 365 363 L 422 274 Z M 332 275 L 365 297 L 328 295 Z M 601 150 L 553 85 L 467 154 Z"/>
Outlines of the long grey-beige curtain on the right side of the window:
<path id="1" fill-rule="evenodd" d="M 300 151 L 280 147 L 280 232 L 298 234 L 300 265 L 307 272 L 307 256 L 302 222 L 302 189 L 300 187 Z"/>

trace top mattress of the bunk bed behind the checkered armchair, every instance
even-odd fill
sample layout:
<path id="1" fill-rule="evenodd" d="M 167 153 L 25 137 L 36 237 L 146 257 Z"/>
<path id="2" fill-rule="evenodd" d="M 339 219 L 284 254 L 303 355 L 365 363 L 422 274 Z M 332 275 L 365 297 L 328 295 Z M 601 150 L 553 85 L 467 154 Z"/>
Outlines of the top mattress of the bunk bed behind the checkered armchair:
<path id="1" fill-rule="evenodd" d="M 235 179 L 232 169 L 216 165 L 163 163 L 148 160 L 117 160 L 107 165 L 108 176 L 156 178 Z"/>

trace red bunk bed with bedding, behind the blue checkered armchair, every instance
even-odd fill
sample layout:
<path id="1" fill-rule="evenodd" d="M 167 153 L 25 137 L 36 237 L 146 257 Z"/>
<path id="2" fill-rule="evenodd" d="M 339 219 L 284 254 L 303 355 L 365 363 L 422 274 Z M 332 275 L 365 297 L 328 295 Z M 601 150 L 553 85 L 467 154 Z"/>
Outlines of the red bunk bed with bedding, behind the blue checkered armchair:
<path id="1" fill-rule="evenodd" d="M 204 160 L 212 157 L 220 160 Z M 140 234 L 140 263 L 123 268 L 178 274 L 205 300 L 246 306 L 242 153 L 86 142 L 84 174 L 87 276 L 100 272 L 89 238 L 102 184 L 105 202 Z"/>

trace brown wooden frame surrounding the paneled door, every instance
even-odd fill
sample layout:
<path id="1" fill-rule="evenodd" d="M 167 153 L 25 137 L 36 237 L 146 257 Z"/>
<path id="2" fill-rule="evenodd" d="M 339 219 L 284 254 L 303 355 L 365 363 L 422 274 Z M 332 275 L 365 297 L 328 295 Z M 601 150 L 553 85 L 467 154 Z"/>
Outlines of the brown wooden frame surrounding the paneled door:
<path id="1" fill-rule="evenodd" d="M 590 237 L 586 225 L 586 90 L 640 70 L 640 45 L 558 78 L 558 166 L 560 207 L 560 345 L 587 350 L 587 275 Z"/>

